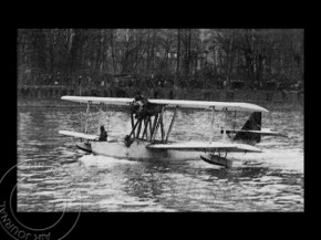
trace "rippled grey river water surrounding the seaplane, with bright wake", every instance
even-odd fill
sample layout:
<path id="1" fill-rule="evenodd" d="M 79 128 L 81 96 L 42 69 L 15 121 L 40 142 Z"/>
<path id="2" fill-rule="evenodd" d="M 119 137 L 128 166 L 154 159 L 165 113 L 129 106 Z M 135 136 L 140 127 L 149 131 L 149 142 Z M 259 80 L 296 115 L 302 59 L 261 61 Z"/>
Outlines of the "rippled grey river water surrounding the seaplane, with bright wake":
<path id="1" fill-rule="evenodd" d="M 263 115 L 265 127 L 289 138 L 265 137 L 258 145 L 265 153 L 256 155 L 262 165 L 236 163 L 231 169 L 200 159 L 133 161 L 84 154 L 74 147 L 75 139 L 58 134 L 81 129 L 80 111 L 84 107 L 18 109 L 18 161 L 44 165 L 37 170 L 18 168 L 18 211 L 63 211 L 66 202 L 68 211 L 76 211 L 80 205 L 82 211 L 303 211 L 302 107 L 278 106 Z M 237 127 L 246 117 L 238 116 Z M 210 121 L 206 112 L 179 113 L 172 139 L 208 140 Z M 130 129 L 123 112 L 100 118 L 92 113 L 91 133 L 97 131 L 97 123 L 108 126 L 115 138 Z M 218 113 L 215 127 L 221 124 Z M 64 174 L 48 171 L 52 161 L 59 166 L 56 173 Z M 73 190 L 81 194 L 81 201 L 71 200 Z"/>

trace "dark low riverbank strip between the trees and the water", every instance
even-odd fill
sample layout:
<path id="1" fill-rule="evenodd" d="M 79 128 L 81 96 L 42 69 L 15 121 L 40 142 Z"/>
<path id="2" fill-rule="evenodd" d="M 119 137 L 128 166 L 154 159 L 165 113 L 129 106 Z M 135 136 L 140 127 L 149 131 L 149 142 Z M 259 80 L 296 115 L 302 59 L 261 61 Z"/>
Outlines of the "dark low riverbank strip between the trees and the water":
<path id="1" fill-rule="evenodd" d="M 198 100 L 198 101 L 230 101 L 249 103 L 303 103 L 303 93 L 299 91 L 268 91 L 268 90 L 200 90 L 200 88 L 147 88 L 139 91 L 147 98 L 167 100 Z M 134 97 L 137 90 L 133 87 L 122 88 L 81 88 L 60 86 L 24 86 L 18 87 L 19 105 L 37 105 L 33 100 L 46 100 L 48 105 L 61 104 L 63 95 L 105 96 L 105 97 Z"/>

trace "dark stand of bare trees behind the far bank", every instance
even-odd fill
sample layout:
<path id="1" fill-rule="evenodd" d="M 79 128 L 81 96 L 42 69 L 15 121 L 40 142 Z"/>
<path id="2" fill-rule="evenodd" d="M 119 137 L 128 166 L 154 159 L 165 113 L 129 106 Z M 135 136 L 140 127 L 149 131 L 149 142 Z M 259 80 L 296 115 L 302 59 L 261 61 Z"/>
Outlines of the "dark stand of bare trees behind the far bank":
<path id="1" fill-rule="evenodd" d="M 19 29 L 17 48 L 20 85 L 290 86 L 304 74 L 301 29 Z"/>

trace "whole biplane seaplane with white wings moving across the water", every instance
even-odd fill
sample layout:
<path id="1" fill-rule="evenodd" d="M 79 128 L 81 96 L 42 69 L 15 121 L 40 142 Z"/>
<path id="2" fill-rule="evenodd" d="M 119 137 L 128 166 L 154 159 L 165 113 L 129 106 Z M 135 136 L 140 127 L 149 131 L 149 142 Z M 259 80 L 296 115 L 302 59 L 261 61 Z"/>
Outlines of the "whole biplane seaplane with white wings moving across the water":
<path id="1" fill-rule="evenodd" d="M 59 131 L 59 134 L 81 138 L 76 144 L 82 150 L 94 155 L 104 155 L 122 159 L 203 159 L 204 161 L 220 167 L 232 167 L 228 154 L 261 153 L 255 145 L 260 143 L 262 136 L 286 136 L 282 133 L 261 127 L 262 113 L 269 111 L 250 103 L 240 102 L 206 102 L 185 100 L 147 100 L 142 95 L 134 98 L 96 97 L 96 96 L 62 96 L 63 101 L 86 104 L 86 116 L 92 105 L 117 106 L 130 114 L 131 131 L 120 139 L 102 138 L 100 135 L 79 133 L 73 131 Z M 209 142 L 177 142 L 170 140 L 174 124 L 179 109 L 206 109 L 213 114 L 221 112 L 250 112 L 250 116 L 241 127 L 221 127 L 221 140 Z M 164 113 L 173 112 L 165 127 Z M 86 122 L 87 124 L 87 122 Z M 168 125 L 169 124 L 169 125 Z M 104 128 L 103 128 L 104 131 Z"/>

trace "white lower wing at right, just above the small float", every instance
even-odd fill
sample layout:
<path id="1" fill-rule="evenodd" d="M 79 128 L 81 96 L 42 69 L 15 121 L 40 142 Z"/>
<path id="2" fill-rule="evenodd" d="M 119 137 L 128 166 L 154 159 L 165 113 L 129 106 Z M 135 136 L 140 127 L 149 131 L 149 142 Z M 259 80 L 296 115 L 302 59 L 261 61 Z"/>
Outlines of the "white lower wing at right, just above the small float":
<path id="1" fill-rule="evenodd" d="M 169 143 L 169 144 L 151 144 L 146 146 L 149 149 L 173 149 L 173 150 L 227 150 L 230 153 L 249 152 L 261 153 L 261 149 L 247 144 L 232 143 L 201 143 L 201 142 L 186 142 L 186 143 Z"/>

